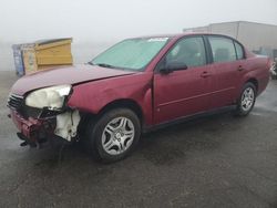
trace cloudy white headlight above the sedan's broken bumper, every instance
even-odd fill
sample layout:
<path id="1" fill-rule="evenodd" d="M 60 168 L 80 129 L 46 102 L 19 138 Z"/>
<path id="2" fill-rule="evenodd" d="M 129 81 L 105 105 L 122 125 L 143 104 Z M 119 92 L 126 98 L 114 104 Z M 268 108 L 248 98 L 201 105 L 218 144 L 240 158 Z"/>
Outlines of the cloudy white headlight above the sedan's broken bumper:
<path id="1" fill-rule="evenodd" d="M 70 94 L 71 85 L 59 85 L 33 91 L 25 97 L 25 105 L 30 107 L 59 110 L 64 98 Z"/>

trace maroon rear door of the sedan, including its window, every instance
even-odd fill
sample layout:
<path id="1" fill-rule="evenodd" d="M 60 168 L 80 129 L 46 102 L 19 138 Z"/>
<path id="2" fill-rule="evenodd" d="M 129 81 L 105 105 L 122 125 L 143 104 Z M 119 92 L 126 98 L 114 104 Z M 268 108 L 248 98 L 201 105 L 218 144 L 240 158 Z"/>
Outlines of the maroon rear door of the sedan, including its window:
<path id="1" fill-rule="evenodd" d="M 244 62 L 239 59 L 243 52 L 240 51 L 239 54 L 236 52 L 233 39 L 222 35 L 208 35 L 207 39 L 214 70 L 214 93 L 211 95 L 209 108 L 217 108 L 236 102 L 237 87 L 244 71 Z"/>

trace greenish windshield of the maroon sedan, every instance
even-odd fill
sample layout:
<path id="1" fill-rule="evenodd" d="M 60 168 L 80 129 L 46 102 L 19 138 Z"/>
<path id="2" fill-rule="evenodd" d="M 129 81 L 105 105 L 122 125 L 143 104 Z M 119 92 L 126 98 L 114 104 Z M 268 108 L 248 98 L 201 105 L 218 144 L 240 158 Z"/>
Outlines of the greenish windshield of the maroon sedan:
<path id="1" fill-rule="evenodd" d="M 90 63 L 103 67 L 117 67 L 140 71 L 165 45 L 168 38 L 124 40 L 98 55 Z"/>

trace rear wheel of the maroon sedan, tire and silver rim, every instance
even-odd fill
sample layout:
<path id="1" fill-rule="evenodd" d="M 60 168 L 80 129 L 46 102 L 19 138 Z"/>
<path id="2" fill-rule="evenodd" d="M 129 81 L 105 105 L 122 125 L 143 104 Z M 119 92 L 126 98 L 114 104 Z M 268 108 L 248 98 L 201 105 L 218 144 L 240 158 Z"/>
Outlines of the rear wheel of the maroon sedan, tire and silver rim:
<path id="1" fill-rule="evenodd" d="M 248 82 L 244 85 L 240 96 L 237 102 L 236 107 L 236 115 L 238 116 L 246 116 L 253 110 L 257 96 L 257 89 L 256 86 Z"/>

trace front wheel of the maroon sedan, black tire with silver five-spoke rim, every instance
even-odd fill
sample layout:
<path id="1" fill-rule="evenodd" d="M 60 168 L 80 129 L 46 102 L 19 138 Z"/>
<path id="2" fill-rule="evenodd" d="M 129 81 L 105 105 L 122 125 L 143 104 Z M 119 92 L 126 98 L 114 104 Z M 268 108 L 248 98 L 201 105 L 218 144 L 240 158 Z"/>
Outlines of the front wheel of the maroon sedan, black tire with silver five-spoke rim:
<path id="1" fill-rule="evenodd" d="M 117 162 L 129 156 L 141 137 L 141 122 L 129 108 L 114 108 L 100 118 L 92 119 L 86 127 L 96 160 Z"/>

